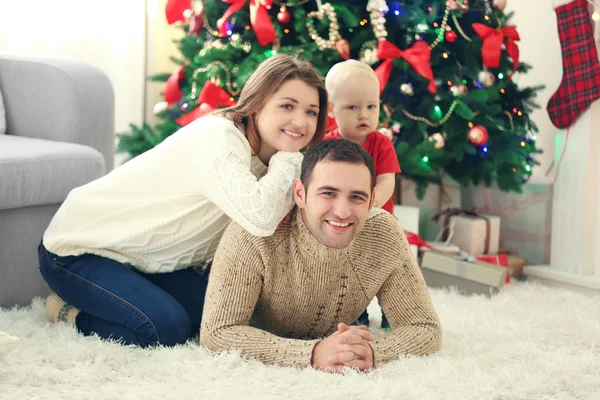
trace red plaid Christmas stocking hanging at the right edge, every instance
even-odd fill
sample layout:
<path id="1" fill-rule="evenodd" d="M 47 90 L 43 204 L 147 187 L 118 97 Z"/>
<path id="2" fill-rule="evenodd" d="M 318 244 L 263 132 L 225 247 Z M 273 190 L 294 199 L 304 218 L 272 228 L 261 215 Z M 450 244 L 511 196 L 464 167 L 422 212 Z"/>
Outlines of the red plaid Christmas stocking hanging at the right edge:
<path id="1" fill-rule="evenodd" d="M 561 129 L 571 126 L 600 97 L 600 63 L 587 5 L 586 0 L 573 0 L 556 8 L 563 78 L 547 110 Z"/>

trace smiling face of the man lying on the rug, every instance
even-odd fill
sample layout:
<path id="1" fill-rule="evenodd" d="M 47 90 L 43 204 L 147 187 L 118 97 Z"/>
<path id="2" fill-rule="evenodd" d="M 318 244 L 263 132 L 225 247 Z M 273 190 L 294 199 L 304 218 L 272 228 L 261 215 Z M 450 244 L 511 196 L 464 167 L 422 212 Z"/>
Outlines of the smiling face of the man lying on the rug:
<path id="1" fill-rule="evenodd" d="M 294 182 L 294 199 L 310 232 L 325 246 L 344 248 L 362 231 L 374 192 L 364 164 L 322 160 L 308 187 Z"/>

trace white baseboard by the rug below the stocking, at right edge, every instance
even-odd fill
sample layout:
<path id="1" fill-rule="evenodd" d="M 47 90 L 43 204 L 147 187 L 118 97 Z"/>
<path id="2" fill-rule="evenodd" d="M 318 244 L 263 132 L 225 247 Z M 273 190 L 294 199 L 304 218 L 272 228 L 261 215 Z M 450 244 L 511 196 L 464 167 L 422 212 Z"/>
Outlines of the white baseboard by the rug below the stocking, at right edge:
<path id="1" fill-rule="evenodd" d="M 586 294 L 600 295 L 600 277 L 577 275 L 560 271 L 549 265 L 531 265 L 524 269 L 528 278 L 548 286 L 572 289 Z"/>

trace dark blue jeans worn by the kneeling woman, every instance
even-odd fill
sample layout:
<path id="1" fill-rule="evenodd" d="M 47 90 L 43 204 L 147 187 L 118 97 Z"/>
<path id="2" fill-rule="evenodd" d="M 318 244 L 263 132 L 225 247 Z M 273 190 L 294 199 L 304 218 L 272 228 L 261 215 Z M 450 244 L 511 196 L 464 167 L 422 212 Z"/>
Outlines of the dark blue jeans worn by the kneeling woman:
<path id="1" fill-rule="evenodd" d="M 185 343 L 200 332 L 208 279 L 192 268 L 144 274 L 93 254 L 60 257 L 43 244 L 38 255 L 48 285 L 81 310 L 76 326 L 85 336 L 147 347 Z"/>

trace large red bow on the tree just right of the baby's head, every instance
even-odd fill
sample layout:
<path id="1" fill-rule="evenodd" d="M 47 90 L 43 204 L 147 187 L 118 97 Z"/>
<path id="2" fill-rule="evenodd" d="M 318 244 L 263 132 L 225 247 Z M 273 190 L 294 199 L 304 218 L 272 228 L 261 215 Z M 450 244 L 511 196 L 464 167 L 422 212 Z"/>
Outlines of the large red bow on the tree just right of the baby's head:
<path id="1" fill-rule="evenodd" d="M 377 46 L 377 58 L 384 60 L 375 70 L 375 74 L 379 79 L 379 92 L 383 93 L 383 89 L 390 80 L 394 59 L 403 58 L 416 73 L 429 81 L 427 88 L 431 93 L 437 91 L 433 80 L 433 71 L 429 60 L 431 59 L 431 50 L 427 43 L 422 40 L 416 41 L 412 47 L 406 50 L 400 50 L 394 44 L 387 40 L 382 40 Z"/>

